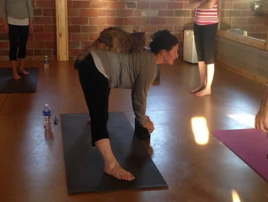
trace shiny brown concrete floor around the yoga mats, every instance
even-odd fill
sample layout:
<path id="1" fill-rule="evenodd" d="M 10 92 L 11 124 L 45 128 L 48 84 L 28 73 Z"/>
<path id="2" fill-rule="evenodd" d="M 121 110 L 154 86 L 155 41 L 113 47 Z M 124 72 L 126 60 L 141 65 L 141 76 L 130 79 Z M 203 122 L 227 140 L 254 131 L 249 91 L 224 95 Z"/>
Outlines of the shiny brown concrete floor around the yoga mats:
<path id="1" fill-rule="evenodd" d="M 196 65 L 162 66 L 148 96 L 156 129 L 145 146 L 169 188 L 68 195 L 60 123 L 45 134 L 41 112 L 48 103 L 52 116 L 87 113 L 78 75 L 73 62 L 50 61 L 47 71 L 42 61 L 26 66 L 40 67 L 36 92 L 0 94 L 0 201 L 234 202 L 232 191 L 240 201 L 268 201 L 263 178 L 210 132 L 198 143 L 191 126 L 191 118 L 203 117 L 209 131 L 251 128 L 264 85 L 216 68 L 212 95 L 195 97 Z M 124 112 L 133 126 L 130 90 L 112 89 L 109 111 Z"/>

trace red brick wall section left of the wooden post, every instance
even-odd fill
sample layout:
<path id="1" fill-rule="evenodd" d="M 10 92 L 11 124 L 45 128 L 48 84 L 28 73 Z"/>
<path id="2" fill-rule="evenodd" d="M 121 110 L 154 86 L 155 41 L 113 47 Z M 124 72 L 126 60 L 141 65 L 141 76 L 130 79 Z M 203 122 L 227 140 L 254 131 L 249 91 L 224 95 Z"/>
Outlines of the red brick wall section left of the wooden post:
<path id="1" fill-rule="evenodd" d="M 55 0 L 32 0 L 34 33 L 29 35 L 27 59 L 43 59 L 56 55 Z M 8 59 L 8 34 L 0 25 L 0 56 Z"/>

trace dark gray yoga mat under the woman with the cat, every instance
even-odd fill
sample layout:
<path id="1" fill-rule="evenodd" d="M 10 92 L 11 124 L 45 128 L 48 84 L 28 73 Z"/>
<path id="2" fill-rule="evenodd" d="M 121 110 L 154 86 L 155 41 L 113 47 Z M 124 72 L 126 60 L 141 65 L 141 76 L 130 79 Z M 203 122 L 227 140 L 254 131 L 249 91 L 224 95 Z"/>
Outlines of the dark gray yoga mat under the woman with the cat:
<path id="1" fill-rule="evenodd" d="M 68 193 L 168 187 L 124 114 L 109 114 L 108 131 L 113 153 L 136 177 L 133 181 L 104 173 L 103 160 L 91 145 L 88 114 L 61 114 L 60 120 Z"/>

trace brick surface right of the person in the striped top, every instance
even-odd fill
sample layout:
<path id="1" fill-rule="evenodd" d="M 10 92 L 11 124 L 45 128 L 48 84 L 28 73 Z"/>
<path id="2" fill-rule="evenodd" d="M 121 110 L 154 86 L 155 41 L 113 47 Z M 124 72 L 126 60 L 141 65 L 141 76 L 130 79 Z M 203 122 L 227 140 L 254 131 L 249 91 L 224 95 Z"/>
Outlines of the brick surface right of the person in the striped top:
<path id="1" fill-rule="evenodd" d="M 221 28 L 243 29 L 248 36 L 266 40 L 267 38 L 267 15 L 254 16 L 250 10 L 248 0 L 222 0 Z M 265 4 L 268 9 L 267 3 Z"/>

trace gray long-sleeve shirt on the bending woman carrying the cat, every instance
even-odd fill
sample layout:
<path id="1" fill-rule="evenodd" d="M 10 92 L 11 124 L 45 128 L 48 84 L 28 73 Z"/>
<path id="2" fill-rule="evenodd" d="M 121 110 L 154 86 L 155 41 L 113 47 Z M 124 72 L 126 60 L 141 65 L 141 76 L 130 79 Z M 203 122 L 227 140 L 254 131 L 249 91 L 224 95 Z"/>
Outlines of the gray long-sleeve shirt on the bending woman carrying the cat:
<path id="1" fill-rule="evenodd" d="M 148 49 L 141 54 L 116 54 L 95 49 L 91 54 L 111 88 L 132 89 L 133 112 L 141 125 L 146 124 L 147 94 L 156 77 L 155 55 Z"/>

